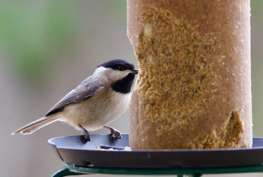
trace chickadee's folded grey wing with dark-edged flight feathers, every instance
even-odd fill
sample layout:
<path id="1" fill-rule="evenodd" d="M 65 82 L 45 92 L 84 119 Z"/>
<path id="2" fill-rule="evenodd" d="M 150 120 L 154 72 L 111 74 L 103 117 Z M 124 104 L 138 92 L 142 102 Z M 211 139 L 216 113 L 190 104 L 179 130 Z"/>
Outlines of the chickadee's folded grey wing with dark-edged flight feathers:
<path id="1" fill-rule="evenodd" d="M 69 92 L 64 96 L 55 106 L 53 106 L 46 116 L 53 114 L 55 112 L 61 111 L 65 106 L 85 101 L 97 94 L 97 92 L 103 88 L 101 84 L 86 83 L 80 84 L 77 88 Z"/>

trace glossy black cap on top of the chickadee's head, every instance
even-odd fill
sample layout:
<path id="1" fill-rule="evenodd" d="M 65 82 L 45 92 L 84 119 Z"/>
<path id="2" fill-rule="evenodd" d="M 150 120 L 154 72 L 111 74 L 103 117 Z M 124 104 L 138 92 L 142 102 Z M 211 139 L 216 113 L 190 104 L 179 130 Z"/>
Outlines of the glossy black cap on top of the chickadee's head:
<path id="1" fill-rule="evenodd" d="M 130 62 L 126 61 L 126 60 L 111 60 L 105 63 L 102 63 L 101 65 L 99 65 L 98 67 L 104 67 L 104 68 L 112 68 L 114 70 L 117 70 L 120 66 L 123 67 L 124 70 L 134 70 L 134 65 L 131 64 Z"/>

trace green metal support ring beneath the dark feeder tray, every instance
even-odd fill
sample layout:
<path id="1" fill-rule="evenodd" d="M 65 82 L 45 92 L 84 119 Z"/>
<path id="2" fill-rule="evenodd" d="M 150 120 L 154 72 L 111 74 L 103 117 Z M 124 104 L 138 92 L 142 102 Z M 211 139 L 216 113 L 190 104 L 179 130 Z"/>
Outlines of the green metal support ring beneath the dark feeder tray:
<path id="1" fill-rule="evenodd" d="M 73 164 L 65 164 L 64 170 L 60 170 L 52 177 L 62 177 L 69 175 L 83 174 L 118 174 L 118 175 L 190 175 L 200 177 L 203 174 L 222 174 L 222 173 L 252 173 L 263 172 L 263 164 L 257 166 L 244 167 L 224 167 L 224 168 L 102 168 L 92 166 L 75 166 Z"/>

